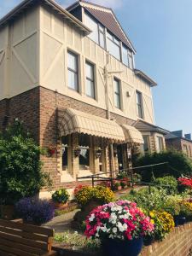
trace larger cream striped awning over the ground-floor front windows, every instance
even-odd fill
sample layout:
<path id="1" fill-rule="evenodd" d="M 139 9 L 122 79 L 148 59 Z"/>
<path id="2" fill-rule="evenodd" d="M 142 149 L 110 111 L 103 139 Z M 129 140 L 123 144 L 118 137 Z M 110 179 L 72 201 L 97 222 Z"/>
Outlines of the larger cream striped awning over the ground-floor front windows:
<path id="1" fill-rule="evenodd" d="M 122 127 L 113 120 L 104 119 L 73 108 L 58 109 L 58 119 L 61 137 L 78 132 L 108 138 L 114 143 L 125 142 Z"/>

